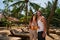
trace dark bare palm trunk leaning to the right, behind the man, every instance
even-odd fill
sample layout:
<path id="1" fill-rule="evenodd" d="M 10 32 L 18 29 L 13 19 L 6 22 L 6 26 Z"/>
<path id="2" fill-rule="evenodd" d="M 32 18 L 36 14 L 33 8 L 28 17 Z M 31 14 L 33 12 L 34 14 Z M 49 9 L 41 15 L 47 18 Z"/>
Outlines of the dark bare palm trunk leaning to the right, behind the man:
<path id="1" fill-rule="evenodd" d="M 48 17 L 48 27 L 47 27 L 47 35 L 48 36 L 50 36 L 49 35 L 49 27 L 50 27 L 50 22 L 51 22 L 51 20 L 52 20 L 52 18 L 53 18 L 53 15 L 54 15 L 54 13 L 55 13 L 55 10 L 56 10 L 56 7 L 57 7 L 57 2 L 58 2 L 58 0 L 55 0 L 55 2 L 53 3 L 53 6 L 52 6 L 52 8 L 51 8 L 51 13 L 50 13 L 50 15 L 49 15 L 49 17 Z M 51 36 L 50 36 L 51 37 Z M 51 37 L 52 38 L 52 37 Z"/>

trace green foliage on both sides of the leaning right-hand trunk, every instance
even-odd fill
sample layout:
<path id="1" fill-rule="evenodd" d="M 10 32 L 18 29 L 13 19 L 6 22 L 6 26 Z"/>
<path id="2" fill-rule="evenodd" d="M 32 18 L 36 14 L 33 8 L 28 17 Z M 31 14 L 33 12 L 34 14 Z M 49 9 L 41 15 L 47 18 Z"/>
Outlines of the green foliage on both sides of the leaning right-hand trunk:
<path id="1" fill-rule="evenodd" d="M 48 2 L 48 4 L 46 5 L 46 8 L 41 8 L 43 15 L 46 17 L 46 19 L 48 18 L 48 16 L 51 13 L 51 8 L 52 8 L 53 3 L 54 2 L 52 2 L 52 3 Z M 57 7 L 57 9 L 55 10 L 55 13 L 52 17 L 50 24 L 55 27 L 60 27 L 60 8 Z"/>

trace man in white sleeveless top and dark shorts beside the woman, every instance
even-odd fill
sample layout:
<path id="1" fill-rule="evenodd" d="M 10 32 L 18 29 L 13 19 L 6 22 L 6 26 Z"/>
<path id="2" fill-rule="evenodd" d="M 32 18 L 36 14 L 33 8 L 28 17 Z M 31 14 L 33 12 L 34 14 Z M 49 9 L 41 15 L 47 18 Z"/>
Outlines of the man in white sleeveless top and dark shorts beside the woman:
<path id="1" fill-rule="evenodd" d="M 46 19 L 44 18 L 44 16 L 42 16 L 42 12 L 39 10 L 36 12 L 36 16 L 37 16 L 37 24 L 38 24 L 38 29 L 37 29 L 38 40 L 45 40 L 46 27 L 47 27 Z"/>

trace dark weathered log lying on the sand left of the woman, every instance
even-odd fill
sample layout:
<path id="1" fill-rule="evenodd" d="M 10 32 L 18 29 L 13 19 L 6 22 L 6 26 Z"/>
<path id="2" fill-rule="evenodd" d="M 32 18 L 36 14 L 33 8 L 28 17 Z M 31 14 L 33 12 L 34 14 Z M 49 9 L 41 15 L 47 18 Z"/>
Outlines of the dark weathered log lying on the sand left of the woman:
<path id="1" fill-rule="evenodd" d="M 11 35 L 13 37 L 21 37 L 21 40 L 29 40 L 29 33 L 24 33 L 24 32 L 18 32 L 16 30 L 10 30 Z"/>

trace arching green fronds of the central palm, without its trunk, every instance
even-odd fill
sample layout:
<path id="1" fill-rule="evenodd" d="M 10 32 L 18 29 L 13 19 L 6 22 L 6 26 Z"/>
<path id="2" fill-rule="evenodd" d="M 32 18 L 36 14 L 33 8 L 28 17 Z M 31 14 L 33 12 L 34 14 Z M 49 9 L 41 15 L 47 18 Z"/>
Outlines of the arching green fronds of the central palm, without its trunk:
<path id="1" fill-rule="evenodd" d="M 29 4 L 28 4 L 29 3 Z M 30 1 L 28 1 L 28 6 L 30 6 L 31 8 L 33 7 L 35 10 L 38 10 L 39 8 L 40 8 L 40 6 L 39 5 L 37 5 L 37 4 L 35 4 L 35 3 L 31 3 Z M 18 0 L 18 1 L 16 1 L 15 3 L 13 3 L 12 5 L 10 5 L 9 7 L 13 7 L 13 6 L 16 6 L 16 8 L 17 9 L 15 9 L 17 12 L 21 12 L 21 11 L 23 11 L 23 10 L 25 10 L 26 8 L 26 1 L 24 0 L 24 1 L 22 1 L 22 0 Z M 18 7 L 17 7 L 18 6 Z M 21 10 L 21 11 L 20 11 Z M 14 9 L 12 10 L 12 11 L 14 11 Z M 17 12 L 15 12 L 15 13 L 17 13 Z"/>

